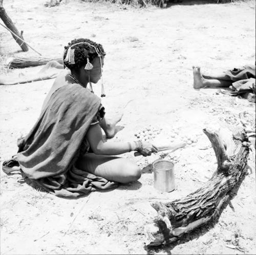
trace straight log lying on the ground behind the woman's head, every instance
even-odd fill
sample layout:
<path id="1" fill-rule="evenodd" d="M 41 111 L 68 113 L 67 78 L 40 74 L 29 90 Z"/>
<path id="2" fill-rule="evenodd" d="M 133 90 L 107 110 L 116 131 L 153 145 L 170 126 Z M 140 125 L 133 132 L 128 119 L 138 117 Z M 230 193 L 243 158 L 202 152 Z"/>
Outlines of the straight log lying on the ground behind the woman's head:
<path id="1" fill-rule="evenodd" d="M 59 64 L 63 64 L 61 58 L 44 58 L 44 57 L 29 57 L 29 58 L 8 58 L 6 65 L 12 68 L 25 68 L 30 66 L 38 66 L 47 64 L 49 61 L 55 60 Z"/>

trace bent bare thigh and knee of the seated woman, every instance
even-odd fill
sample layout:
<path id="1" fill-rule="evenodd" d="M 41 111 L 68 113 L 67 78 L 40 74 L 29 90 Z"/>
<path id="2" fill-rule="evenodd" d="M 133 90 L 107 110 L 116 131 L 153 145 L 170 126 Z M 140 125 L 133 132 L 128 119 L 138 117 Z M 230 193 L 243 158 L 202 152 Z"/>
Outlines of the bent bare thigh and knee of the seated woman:
<path id="1" fill-rule="evenodd" d="M 76 167 L 107 180 L 121 183 L 136 181 L 141 176 L 141 170 L 136 164 L 116 156 L 87 153 L 78 158 Z"/>

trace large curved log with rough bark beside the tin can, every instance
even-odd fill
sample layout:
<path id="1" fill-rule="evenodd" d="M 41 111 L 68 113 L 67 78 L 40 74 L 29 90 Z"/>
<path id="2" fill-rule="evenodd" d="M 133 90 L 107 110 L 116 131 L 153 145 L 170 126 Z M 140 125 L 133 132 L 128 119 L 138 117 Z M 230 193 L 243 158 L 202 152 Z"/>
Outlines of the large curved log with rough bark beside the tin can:
<path id="1" fill-rule="evenodd" d="M 203 132 L 215 150 L 218 169 L 202 188 L 188 196 L 165 203 L 152 203 L 158 216 L 154 224 L 146 227 L 149 246 L 175 242 L 185 233 L 217 220 L 247 172 L 249 144 L 245 133 L 241 140 L 227 141 L 221 132 L 207 129 Z"/>

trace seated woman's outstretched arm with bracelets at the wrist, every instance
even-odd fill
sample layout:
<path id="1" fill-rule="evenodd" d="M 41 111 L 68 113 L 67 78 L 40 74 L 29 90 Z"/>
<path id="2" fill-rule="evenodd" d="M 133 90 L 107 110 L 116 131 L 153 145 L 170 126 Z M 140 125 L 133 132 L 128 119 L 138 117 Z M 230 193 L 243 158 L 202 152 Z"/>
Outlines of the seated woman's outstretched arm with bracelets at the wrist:
<path id="1" fill-rule="evenodd" d="M 140 151 L 143 156 L 149 156 L 152 152 L 157 152 L 157 148 L 150 143 L 142 142 L 142 148 L 137 142 L 103 142 L 100 125 L 90 126 L 86 134 L 87 141 L 92 151 L 99 155 L 119 155 L 130 151 Z"/>

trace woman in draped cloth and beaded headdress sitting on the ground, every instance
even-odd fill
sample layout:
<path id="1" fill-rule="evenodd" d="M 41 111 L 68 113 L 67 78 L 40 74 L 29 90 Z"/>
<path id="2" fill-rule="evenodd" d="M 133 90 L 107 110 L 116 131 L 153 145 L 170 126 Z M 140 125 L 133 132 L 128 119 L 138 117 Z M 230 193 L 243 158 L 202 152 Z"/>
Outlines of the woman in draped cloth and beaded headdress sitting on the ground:
<path id="1" fill-rule="evenodd" d="M 22 171 L 57 196 L 78 197 L 138 180 L 139 167 L 116 155 L 157 152 L 142 141 L 104 142 L 101 127 L 111 137 L 118 120 L 104 118 L 100 98 L 87 88 L 100 80 L 104 56 L 101 44 L 72 40 L 63 55 L 69 71 L 56 79 L 36 124 L 18 141 L 16 160 Z"/>

